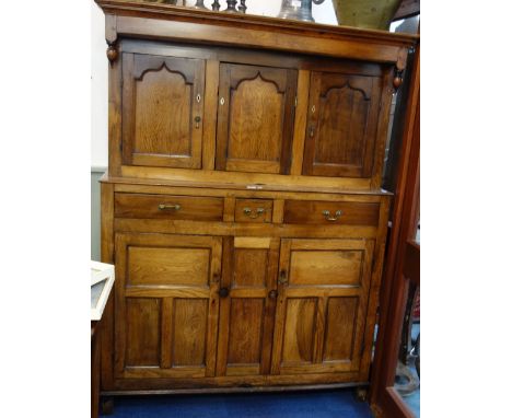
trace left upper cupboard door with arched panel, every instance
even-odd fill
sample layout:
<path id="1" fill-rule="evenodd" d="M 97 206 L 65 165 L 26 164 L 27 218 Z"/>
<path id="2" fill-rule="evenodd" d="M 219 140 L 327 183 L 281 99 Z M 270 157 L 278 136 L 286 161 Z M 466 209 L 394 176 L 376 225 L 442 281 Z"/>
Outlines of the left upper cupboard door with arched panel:
<path id="1" fill-rule="evenodd" d="M 201 167 L 205 61 L 124 54 L 123 162 Z"/>

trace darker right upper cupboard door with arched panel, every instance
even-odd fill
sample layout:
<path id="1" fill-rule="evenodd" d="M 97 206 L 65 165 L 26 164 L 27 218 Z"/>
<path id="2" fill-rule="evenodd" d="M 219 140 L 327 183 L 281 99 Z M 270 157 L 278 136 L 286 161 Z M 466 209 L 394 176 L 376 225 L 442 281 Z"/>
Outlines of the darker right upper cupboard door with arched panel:
<path id="1" fill-rule="evenodd" d="M 303 174 L 371 177 L 381 79 L 312 72 Z"/>

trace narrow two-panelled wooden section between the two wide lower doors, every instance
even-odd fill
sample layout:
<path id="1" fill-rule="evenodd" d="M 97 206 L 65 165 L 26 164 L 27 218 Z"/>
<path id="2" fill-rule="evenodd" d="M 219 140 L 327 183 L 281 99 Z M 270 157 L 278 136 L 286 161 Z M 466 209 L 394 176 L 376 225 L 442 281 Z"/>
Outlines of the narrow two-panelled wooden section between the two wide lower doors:
<path id="1" fill-rule="evenodd" d="M 224 241 L 217 375 L 270 373 L 279 239 Z"/>

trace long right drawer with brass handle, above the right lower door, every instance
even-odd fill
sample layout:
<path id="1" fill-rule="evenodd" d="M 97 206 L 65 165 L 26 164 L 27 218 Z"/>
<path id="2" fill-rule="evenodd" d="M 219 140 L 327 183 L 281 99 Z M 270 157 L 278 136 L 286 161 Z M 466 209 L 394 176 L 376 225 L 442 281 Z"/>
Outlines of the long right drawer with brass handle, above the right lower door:
<path id="1" fill-rule="evenodd" d="M 379 225 L 380 204 L 286 200 L 284 223 Z"/>

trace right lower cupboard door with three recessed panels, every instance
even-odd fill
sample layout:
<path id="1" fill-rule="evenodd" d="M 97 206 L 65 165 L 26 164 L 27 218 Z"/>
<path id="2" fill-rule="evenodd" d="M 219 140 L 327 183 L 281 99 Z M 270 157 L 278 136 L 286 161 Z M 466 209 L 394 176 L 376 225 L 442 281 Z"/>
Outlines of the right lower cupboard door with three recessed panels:
<path id="1" fill-rule="evenodd" d="M 272 374 L 360 371 L 373 244 L 282 240 Z"/>

